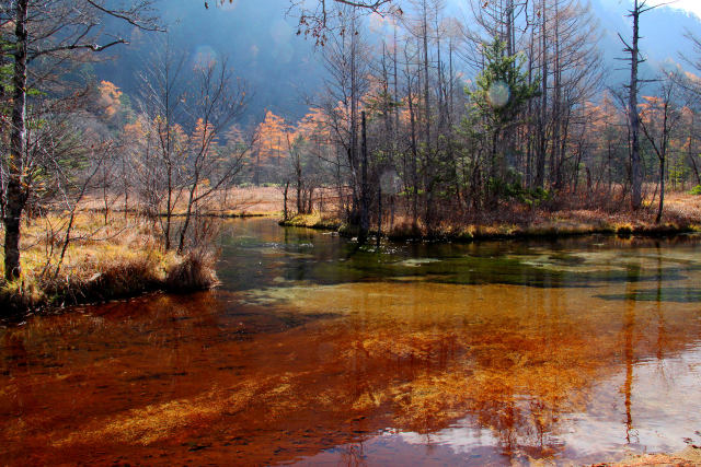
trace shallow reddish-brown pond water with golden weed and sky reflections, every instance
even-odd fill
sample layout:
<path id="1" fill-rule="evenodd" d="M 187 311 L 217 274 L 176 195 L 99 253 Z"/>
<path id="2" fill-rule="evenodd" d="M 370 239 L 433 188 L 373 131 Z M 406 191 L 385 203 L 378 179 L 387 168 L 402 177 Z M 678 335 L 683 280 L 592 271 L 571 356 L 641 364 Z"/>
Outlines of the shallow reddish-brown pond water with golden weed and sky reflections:
<path id="1" fill-rule="evenodd" d="M 701 240 L 358 248 L 0 329 L 0 464 L 586 464 L 701 443 Z"/>

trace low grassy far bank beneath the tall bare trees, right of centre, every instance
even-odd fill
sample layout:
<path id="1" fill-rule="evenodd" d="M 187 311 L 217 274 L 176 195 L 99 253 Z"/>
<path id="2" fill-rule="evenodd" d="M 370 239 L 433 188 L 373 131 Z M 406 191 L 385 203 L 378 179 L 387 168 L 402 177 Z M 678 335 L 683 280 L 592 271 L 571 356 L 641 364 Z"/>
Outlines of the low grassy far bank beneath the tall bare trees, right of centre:
<path id="1" fill-rule="evenodd" d="M 343 235 L 357 232 L 333 214 L 296 215 L 280 225 L 333 230 Z M 677 194 L 669 201 L 660 223 L 655 223 L 655 209 L 637 212 L 611 212 L 602 209 L 509 210 L 502 209 L 480 218 L 443 221 L 432 229 L 413 225 L 405 215 L 384 220 L 382 235 L 390 240 L 428 240 L 472 242 L 479 240 L 558 237 L 590 234 L 620 236 L 664 236 L 701 231 L 701 197 Z M 370 232 L 377 234 L 377 227 Z"/>

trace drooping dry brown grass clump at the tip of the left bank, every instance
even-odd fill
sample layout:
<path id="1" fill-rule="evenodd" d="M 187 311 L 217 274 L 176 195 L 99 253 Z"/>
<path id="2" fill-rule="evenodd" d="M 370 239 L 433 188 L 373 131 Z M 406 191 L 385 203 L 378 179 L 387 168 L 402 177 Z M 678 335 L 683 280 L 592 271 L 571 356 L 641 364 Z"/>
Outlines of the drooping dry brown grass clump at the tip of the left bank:
<path id="1" fill-rule="evenodd" d="M 206 290 L 217 284 L 215 255 L 205 248 L 193 249 L 170 268 L 165 287 L 172 292 Z"/>

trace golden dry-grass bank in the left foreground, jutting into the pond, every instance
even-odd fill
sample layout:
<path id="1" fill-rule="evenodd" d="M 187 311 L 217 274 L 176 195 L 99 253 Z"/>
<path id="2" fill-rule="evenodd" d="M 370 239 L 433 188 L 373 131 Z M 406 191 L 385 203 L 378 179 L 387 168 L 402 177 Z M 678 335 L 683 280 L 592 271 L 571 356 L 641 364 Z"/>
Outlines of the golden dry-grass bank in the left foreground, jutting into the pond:
<path id="1" fill-rule="evenodd" d="M 13 282 L 0 279 L 0 308 L 21 314 L 216 282 L 206 253 L 164 253 L 151 226 L 133 217 L 110 218 L 105 225 L 102 214 L 80 213 L 61 259 L 65 222 L 49 215 L 23 224 L 22 275 Z"/>

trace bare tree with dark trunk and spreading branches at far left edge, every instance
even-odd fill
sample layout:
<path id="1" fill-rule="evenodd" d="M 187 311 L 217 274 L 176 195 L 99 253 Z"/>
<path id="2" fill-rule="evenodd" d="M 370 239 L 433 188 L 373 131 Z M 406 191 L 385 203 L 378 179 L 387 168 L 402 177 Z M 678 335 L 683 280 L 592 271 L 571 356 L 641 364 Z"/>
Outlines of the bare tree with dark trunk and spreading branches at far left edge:
<path id="1" fill-rule="evenodd" d="M 20 221 L 32 186 L 26 179 L 26 119 L 27 94 L 41 87 L 49 74 L 47 63 L 64 65 L 84 58 L 84 52 L 105 50 L 123 38 L 111 37 L 102 27 L 103 19 L 111 16 L 143 30 L 157 30 L 149 13 L 150 2 L 141 0 L 126 9 L 108 5 L 104 0 L 13 0 L 0 7 L 0 22 L 13 24 L 12 33 L 3 28 L 3 40 L 11 45 L 12 118 L 10 122 L 10 151 L 7 155 L 8 180 L 3 192 L 4 276 L 7 280 L 20 277 Z M 41 60 L 42 74 L 28 77 L 33 65 Z M 50 67 L 49 67 L 50 68 Z"/>

